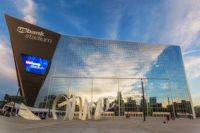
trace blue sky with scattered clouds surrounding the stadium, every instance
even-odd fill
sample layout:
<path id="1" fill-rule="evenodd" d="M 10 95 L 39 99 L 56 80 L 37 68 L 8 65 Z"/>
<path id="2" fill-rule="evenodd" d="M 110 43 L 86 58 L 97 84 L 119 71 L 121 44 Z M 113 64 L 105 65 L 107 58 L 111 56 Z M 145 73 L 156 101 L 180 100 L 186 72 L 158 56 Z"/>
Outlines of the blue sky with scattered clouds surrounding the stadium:
<path id="1" fill-rule="evenodd" d="M 200 1 L 2 0 L 0 93 L 17 88 L 4 14 L 62 34 L 180 45 L 194 103 L 200 104 Z"/>

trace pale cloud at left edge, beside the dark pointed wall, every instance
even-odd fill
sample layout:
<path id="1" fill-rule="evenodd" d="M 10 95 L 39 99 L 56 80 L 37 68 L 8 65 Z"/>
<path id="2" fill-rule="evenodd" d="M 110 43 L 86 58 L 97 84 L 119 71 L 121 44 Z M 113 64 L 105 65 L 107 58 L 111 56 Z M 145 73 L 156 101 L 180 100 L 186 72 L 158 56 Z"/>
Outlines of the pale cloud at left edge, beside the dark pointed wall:
<path id="1" fill-rule="evenodd" d="M 4 36 L 0 36 L 0 99 L 4 95 L 16 95 L 17 75 L 14 67 L 13 54 Z"/>

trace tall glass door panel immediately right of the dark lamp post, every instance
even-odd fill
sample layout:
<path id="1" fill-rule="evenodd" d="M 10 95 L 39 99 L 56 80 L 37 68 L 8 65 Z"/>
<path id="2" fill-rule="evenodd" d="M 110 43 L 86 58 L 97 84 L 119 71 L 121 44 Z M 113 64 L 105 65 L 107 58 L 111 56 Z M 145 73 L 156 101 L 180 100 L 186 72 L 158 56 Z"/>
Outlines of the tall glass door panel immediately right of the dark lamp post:
<path id="1" fill-rule="evenodd" d="M 172 115 L 172 96 L 168 80 L 144 80 L 147 116 Z"/>

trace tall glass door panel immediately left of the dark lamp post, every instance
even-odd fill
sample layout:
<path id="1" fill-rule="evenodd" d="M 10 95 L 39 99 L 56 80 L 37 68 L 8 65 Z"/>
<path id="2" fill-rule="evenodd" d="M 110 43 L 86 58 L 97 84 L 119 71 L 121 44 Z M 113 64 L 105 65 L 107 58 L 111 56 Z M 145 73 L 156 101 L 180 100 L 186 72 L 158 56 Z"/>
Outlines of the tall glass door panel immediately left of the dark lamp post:
<path id="1" fill-rule="evenodd" d="M 120 115 L 142 116 L 142 87 L 139 79 L 119 80 Z"/>

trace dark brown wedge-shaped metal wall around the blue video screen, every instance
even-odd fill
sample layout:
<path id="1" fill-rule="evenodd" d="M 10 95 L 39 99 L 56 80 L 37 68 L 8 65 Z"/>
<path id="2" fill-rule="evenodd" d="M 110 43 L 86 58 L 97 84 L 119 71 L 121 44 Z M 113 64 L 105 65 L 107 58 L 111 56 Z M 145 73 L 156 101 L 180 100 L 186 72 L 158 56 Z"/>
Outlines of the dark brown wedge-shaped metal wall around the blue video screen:
<path id="1" fill-rule="evenodd" d="M 51 59 L 60 34 L 5 15 L 10 33 L 13 56 L 17 71 L 20 94 L 27 104 L 33 106 L 40 88 L 48 74 Z M 28 73 L 23 66 L 21 54 L 45 58 L 49 66 L 44 75 Z"/>

